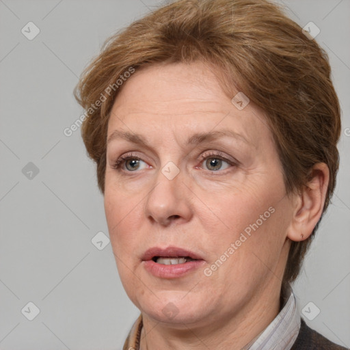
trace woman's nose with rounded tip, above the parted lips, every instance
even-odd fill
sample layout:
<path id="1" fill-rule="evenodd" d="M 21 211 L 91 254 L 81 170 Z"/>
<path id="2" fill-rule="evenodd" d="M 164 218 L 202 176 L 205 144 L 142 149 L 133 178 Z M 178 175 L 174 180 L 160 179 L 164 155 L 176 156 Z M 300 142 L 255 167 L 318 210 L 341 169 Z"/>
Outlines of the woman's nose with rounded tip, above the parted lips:
<path id="1" fill-rule="evenodd" d="M 169 179 L 159 171 L 156 183 L 146 198 L 146 217 L 161 226 L 169 226 L 174 221 L 178 224 L 187 222 L 193 215 L 189 199 L 190 191 L 180 174 Z"/>

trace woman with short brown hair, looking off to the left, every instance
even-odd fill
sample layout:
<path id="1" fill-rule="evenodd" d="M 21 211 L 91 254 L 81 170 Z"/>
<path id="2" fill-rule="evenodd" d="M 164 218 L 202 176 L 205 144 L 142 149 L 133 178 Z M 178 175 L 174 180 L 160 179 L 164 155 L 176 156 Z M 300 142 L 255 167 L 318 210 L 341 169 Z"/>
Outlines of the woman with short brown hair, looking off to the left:
<path id="1" fill-rule="evenodd" d="M 345 349 L 290 283 L 336 183 L 327 56 L 262 0 L 180 0 L 131 24 L 77 100 L 122 284 L 124 349 Z"/>

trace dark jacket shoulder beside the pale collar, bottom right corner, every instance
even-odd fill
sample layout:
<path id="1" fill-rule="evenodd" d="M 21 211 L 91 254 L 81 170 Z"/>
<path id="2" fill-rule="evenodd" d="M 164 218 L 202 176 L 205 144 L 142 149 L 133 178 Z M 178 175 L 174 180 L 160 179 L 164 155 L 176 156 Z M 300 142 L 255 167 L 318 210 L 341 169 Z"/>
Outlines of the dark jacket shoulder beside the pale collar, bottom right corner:
<path id="1" fill-rule="evenodd" d="M 321 334 L 314 331 L 306 325 L 305 321 L 301 319 L 301 325 L 297 340 L 291 350 L 346 350 L 347 348 L 334 344 Z"/>

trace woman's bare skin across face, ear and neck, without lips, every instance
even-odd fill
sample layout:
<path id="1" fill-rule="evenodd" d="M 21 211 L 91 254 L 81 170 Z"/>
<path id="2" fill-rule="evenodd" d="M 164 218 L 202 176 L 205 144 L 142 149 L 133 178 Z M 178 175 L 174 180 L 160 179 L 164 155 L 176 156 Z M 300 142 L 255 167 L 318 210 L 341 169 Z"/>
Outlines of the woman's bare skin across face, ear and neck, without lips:
<path id="1" fill-rule="evenodd" d="M 253 103 L 237 109 L 200 62 L 135 72 L 113 105 L 107 137 L 113 131 L 148 141 L 111 139 L 105 173 L 105 213 L 118 272 L 143 315 L 141 349 L 241 349 L 280 311 L 291 240 L 306 239 L 321 217 L 327 166 L 315 165 L 308 187 L 286 196 L 264 113 Z M 187 144 L 193 134 L 211 131 L 241 136 Z M 218 152 L 230 163 L 220 162 Z M 116 161 L 130 153 L 134 161 L 116 169 Z M 169 161 L 179 170 L 172 180 L 161 172 Z M 205 275 L 270 207 L 274 213 Z M 142 256 L 150 247 L 170 245 L 200 254 L 204 265 L 181 278 L 154 277 Z M 175 317 L 162 311 L 169 303 Z"/>

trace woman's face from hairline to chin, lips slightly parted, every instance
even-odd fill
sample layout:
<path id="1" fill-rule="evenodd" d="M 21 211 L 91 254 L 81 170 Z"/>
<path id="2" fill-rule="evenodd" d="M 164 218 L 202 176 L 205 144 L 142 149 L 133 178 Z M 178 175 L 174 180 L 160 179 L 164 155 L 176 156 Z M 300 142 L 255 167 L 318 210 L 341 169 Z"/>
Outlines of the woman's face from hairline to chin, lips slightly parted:
<path id="1" fill-rule="evenodd" d="M 105 213 L 131 301 L 149 319 L 200 325 L 278 299 L 293 206 L 262 111 L 232 102 L 200 62 L 124 84 Z"/>

